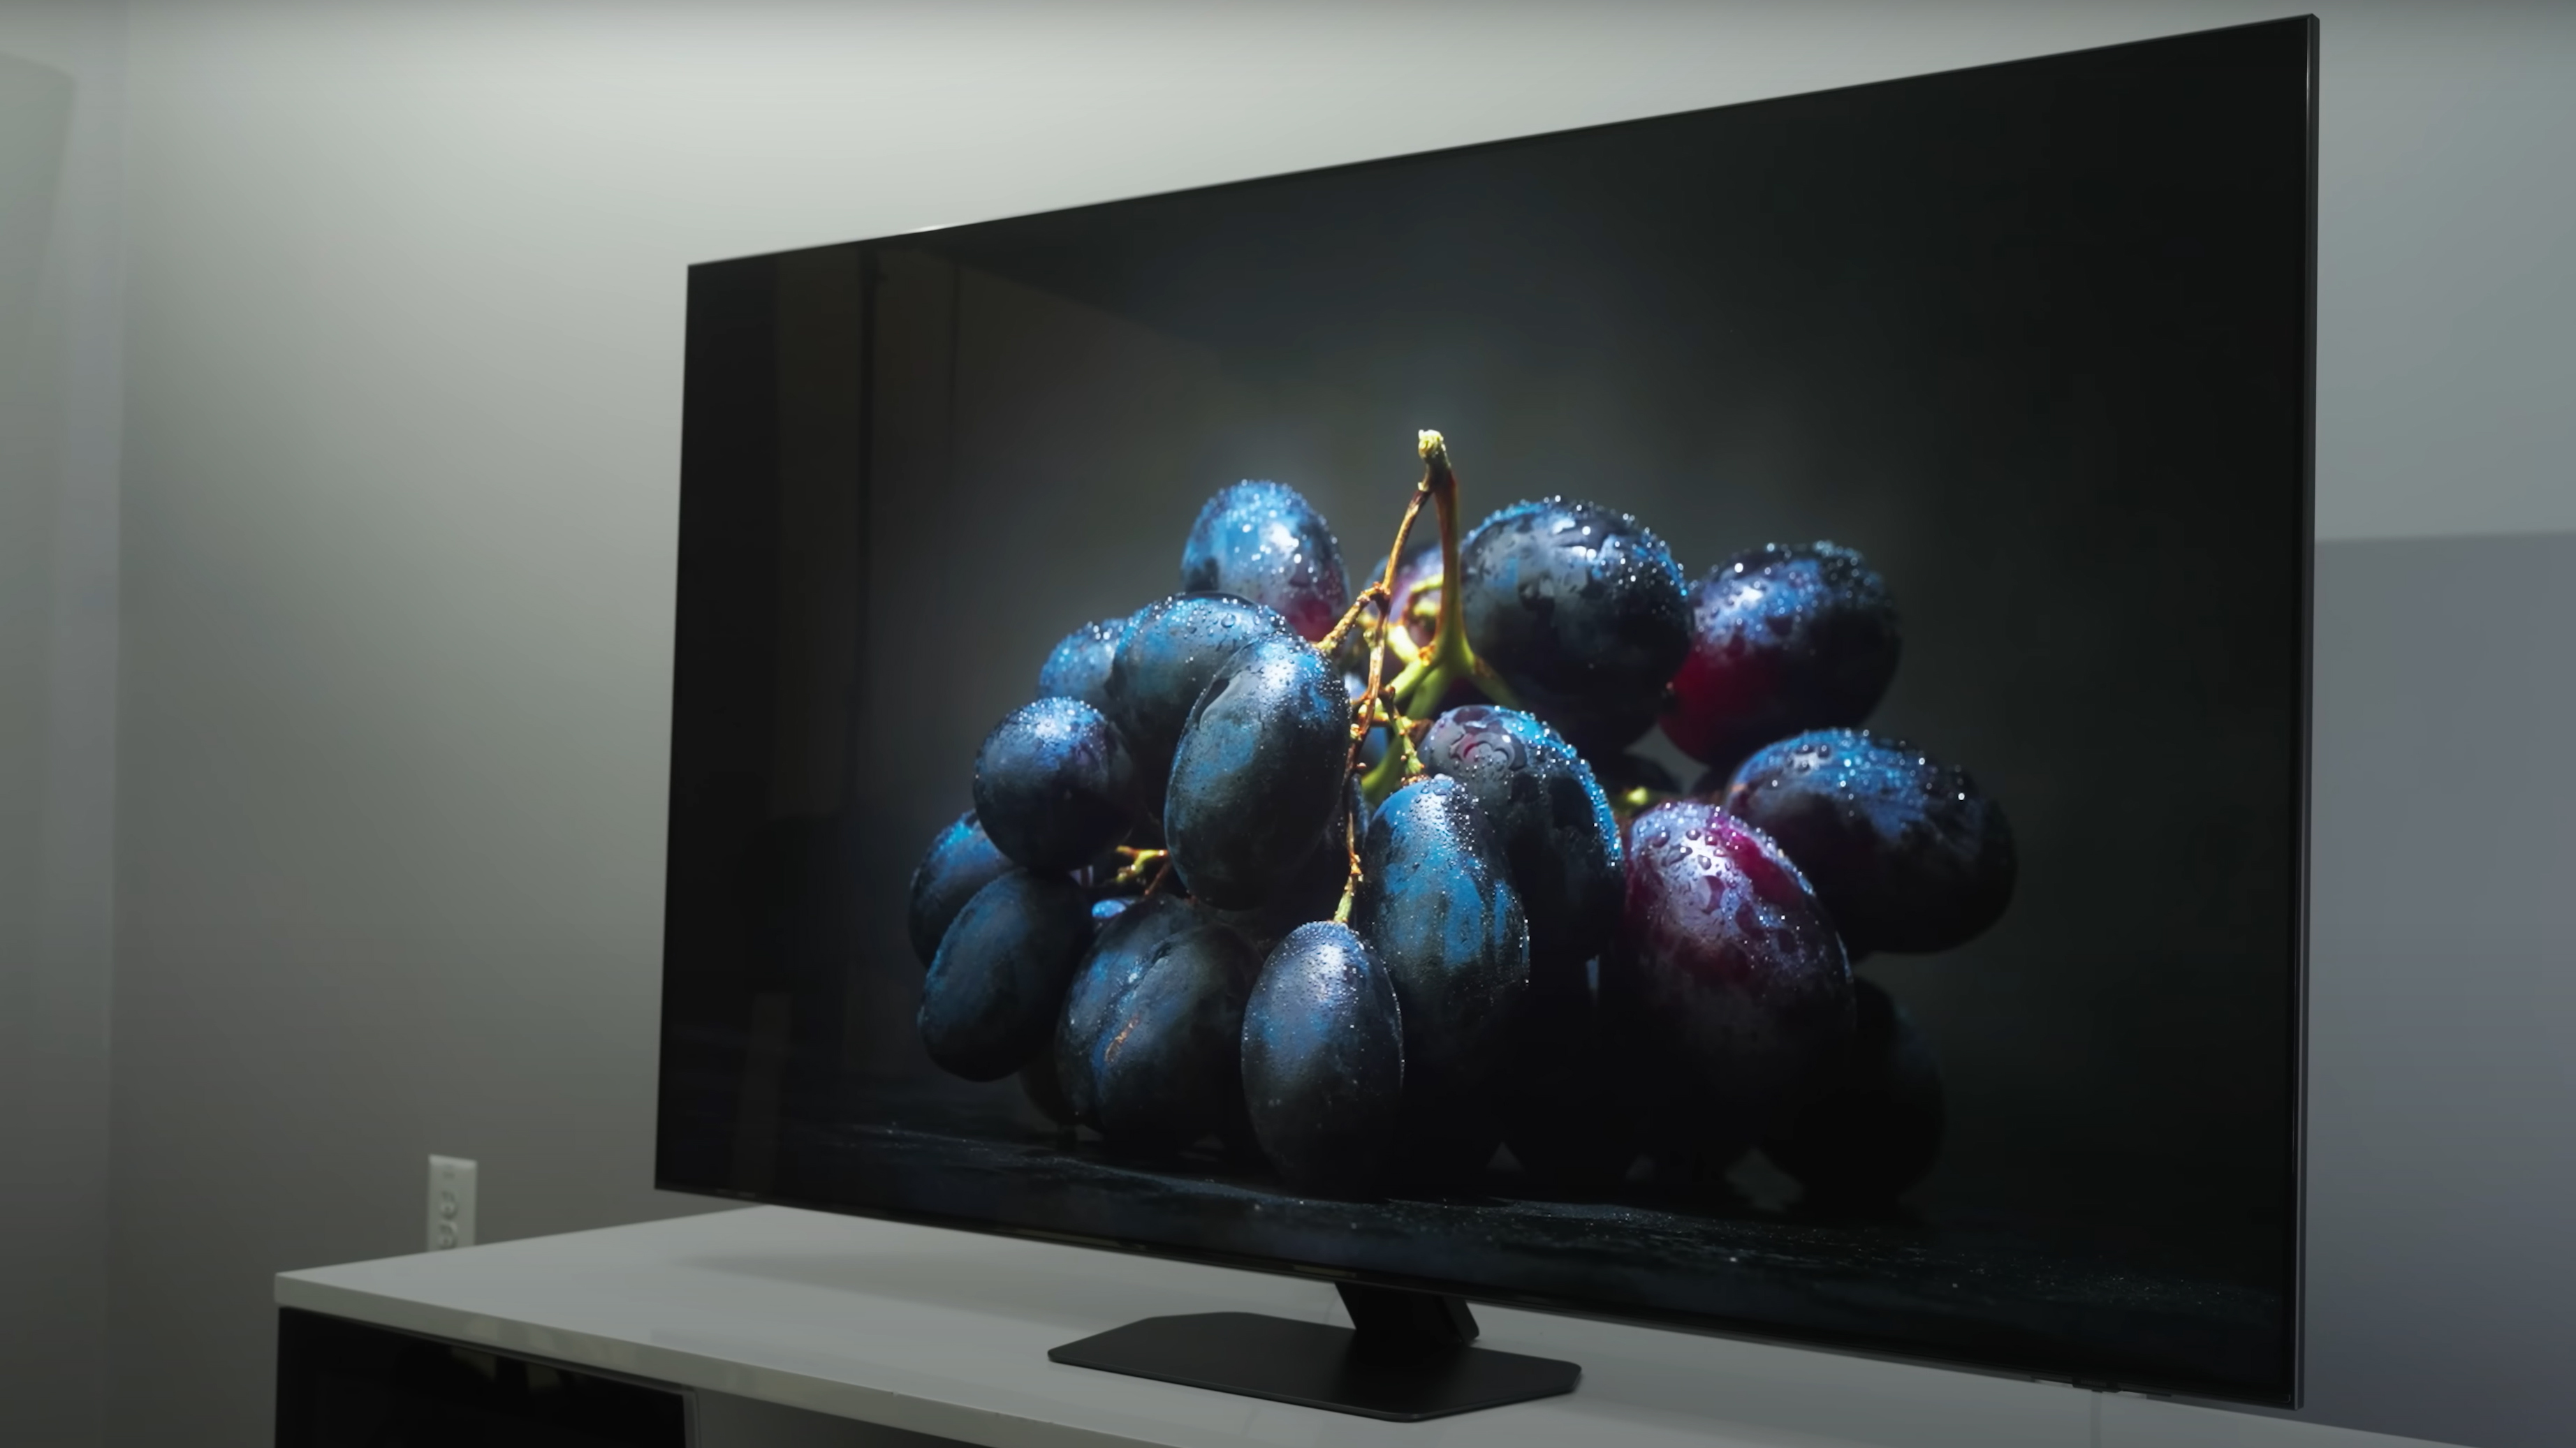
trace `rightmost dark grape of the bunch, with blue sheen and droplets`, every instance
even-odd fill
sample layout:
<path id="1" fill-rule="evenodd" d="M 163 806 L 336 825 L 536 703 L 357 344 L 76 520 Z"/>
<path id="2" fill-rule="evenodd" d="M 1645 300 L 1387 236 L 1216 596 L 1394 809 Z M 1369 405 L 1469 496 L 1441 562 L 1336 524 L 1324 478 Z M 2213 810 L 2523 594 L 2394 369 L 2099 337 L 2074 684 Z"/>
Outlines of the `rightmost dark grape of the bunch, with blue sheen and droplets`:
<path id="1" fill-rule="evenodd" d="M 2012 904 L 2012 827 L 1968 770 L 1868 729 L 1754 750 L 1726 812 L 1798 861 L 1855 951 L 1965 946 Z"/>

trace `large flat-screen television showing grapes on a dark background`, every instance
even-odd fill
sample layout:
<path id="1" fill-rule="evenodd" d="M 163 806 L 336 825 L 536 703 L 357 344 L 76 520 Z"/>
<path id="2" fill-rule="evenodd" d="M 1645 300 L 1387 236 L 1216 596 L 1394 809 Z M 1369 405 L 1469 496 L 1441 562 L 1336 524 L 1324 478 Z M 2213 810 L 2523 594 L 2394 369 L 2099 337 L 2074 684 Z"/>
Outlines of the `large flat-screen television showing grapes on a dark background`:
<path id="1" fill-rule="evenodd" d="M 690 268 L 659 1185 L 2295 1402 L 2313 157 L 2293 18 Z"/>

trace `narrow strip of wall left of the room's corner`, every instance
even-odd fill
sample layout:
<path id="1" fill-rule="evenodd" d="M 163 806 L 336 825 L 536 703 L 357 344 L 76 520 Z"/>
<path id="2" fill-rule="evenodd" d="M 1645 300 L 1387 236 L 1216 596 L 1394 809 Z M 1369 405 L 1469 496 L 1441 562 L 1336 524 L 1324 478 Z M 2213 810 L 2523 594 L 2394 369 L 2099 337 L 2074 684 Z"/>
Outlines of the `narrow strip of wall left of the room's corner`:
<path id="1" fill-rule="evenodd" d="M 0 8 L 0 1404 L 95 1443 L 116 796 L 116 5 Z"/>

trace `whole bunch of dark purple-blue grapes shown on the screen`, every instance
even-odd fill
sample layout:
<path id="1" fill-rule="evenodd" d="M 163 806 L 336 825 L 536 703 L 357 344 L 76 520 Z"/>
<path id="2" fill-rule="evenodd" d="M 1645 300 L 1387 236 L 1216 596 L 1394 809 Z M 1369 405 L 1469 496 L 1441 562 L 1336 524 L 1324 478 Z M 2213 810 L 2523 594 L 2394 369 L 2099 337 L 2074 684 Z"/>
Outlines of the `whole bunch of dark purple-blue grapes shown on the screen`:
<path id="1" fill-rule="evenodd" d="M 1497 1147 L 1569 1188 L 1754 1144 L 1819 1198 L 1919 1180 L 1940 1077 L 1852 961 L 1973 938 L 2014 855 L 1963 770 L 1860 729 L 1880 577 L 1808 544 L 1690 587 L 1564 497 L 1461 533 L 1419 453 L 1358 593 L 1296 490 L 1239 482 L 1180 593 L 1056 644 L 912 876 L 930 1059 L 1301 1193 L 1461 1185 Z M 1690 791 L 1628 752 L 1656 724 Z"/>

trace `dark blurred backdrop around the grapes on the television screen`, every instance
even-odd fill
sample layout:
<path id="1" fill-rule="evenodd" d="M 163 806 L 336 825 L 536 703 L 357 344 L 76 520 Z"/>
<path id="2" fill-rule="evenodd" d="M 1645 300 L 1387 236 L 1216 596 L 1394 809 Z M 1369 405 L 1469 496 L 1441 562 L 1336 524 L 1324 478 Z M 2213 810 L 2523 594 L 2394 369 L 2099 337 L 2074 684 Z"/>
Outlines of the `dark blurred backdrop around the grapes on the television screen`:
<path id="1" fill-rule="evenodd" d="M 984 732 L 1224 482 L 1370 572 L 1440 428 L 1468 518 L 1868 554 L 1870 724 L 2022 861 L 1984 938 L 1862 966 L 1950 1100 L 1909 1201 L 2285 1293 L 2306 75 L 2259 26 L 698 268 L 665 1185 L 884 1208 L 788 1126 L 1025 1116 L 912 1033 L 904 886 Z"/>

